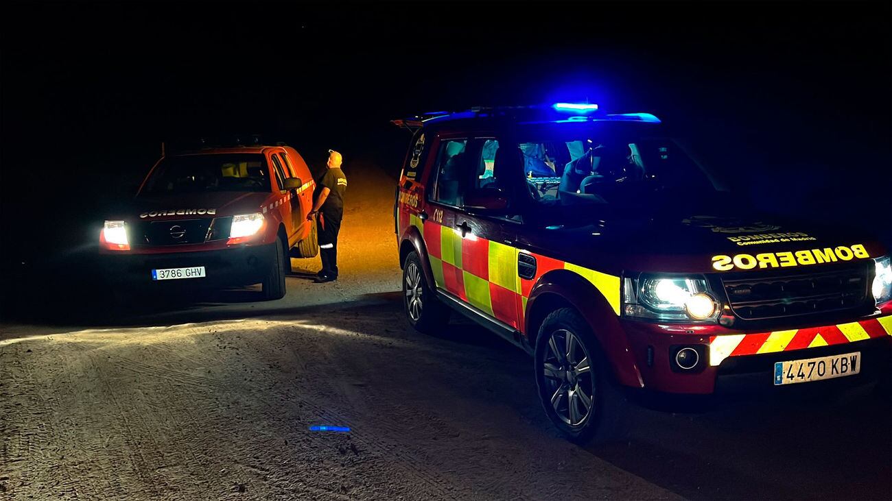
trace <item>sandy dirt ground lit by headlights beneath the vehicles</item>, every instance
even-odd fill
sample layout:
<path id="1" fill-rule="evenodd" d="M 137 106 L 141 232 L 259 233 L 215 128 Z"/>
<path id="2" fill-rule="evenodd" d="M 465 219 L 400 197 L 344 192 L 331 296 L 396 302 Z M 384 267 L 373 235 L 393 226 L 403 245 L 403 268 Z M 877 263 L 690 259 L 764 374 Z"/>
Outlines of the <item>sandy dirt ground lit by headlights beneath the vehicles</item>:
<path id="1" fill-rule="evenodd" d="M 392 179 L 346 172 L 335 283 L 295 259 L 284 300 L 253 288 L 4 318 L 0 498 L 892 497 L 889 404 L 857 392 L 640 409 L 626 443 L 561 439 L 520 350 L 458 321 L 409 328 Z"/>

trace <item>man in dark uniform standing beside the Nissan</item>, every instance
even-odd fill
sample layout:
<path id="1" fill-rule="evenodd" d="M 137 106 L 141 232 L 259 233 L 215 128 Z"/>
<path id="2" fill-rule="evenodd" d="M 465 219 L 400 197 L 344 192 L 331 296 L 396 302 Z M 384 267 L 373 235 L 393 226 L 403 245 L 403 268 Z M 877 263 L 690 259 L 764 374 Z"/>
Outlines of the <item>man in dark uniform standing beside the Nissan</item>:
<path id="1" fill-rule="evenodd" d="M 328 150 L 326 174 L 316 185 L 313 210 L 307 220 L 317 217 L 319 230 L 319 254 L 322 270 L 316 276 L 317 283 L 337 280 L 337 233 L 343 218 L 343 193 L 347 190 L 347 177 L 341 170 L 341 153 Z"/>

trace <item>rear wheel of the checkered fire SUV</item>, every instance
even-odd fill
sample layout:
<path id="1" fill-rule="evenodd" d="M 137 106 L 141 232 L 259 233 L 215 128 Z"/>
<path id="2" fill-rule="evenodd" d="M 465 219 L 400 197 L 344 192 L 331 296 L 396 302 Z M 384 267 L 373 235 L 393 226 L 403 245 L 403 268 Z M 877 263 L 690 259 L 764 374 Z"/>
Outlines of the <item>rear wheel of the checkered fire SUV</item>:
<path id="1" fill-rule="evenodd" d="M 420 333 L 434 333 L 449 321 L 450 309 L 434 296 L 414 250 L 402 267 L 402 305 L 409 324 Z"/>

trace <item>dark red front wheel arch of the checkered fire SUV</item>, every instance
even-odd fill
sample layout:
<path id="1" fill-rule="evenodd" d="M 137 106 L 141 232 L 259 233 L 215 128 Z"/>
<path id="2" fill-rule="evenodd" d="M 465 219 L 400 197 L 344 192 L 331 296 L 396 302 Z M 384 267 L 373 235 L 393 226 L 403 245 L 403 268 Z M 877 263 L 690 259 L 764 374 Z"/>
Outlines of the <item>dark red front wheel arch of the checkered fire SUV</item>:
<path id="1" fill-rule="evenodd" d="M 524 332 L 532 346 L 536 344 L 545 317 L 558 308 L 573 308 L 589 324 L 617 382 L 643 387 L 640 369 L 619 316 L 591 282 L 573 271 L 550 271 L 533 286 L 524 311 Z"/>

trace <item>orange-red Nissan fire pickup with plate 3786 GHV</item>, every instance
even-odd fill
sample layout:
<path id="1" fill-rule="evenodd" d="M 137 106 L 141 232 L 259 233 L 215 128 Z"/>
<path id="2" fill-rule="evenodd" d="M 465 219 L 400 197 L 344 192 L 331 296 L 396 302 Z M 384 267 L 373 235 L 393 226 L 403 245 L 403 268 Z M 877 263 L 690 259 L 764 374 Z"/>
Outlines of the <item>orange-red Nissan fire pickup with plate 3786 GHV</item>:
<path id="1" fill-rule="evenodd" d="M 132 206 L 106 220 L 100 249 L 115 287 L 170 291 L 261 283 L 285 296 L 289 254 L 318 253 L 307 221 L 315 183 L 289 146 L 208 148 L 165 156 Z"/>

